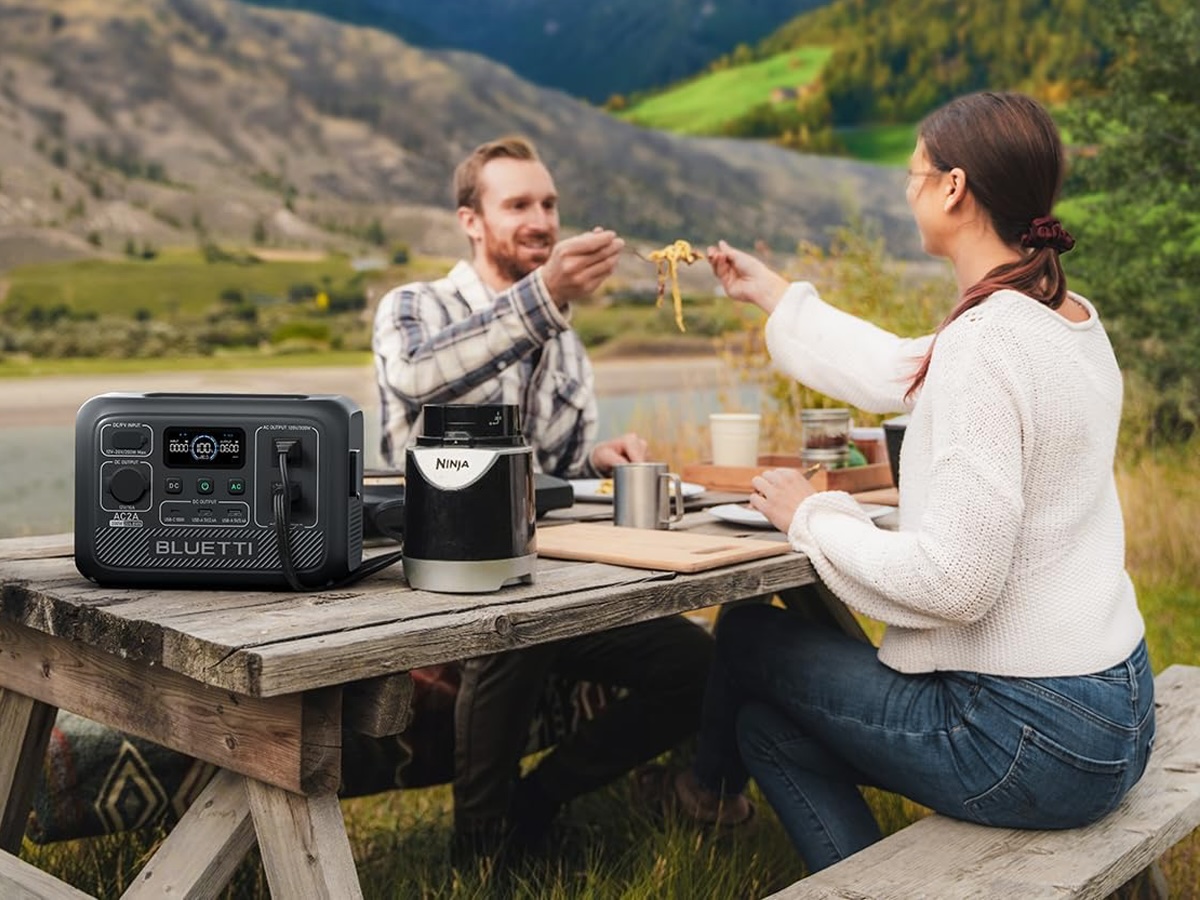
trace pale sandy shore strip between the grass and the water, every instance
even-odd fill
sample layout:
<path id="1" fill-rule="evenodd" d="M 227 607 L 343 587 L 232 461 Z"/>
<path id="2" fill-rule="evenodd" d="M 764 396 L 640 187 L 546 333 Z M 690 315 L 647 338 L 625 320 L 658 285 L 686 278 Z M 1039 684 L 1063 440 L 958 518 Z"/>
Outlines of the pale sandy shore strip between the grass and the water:
<path id="1" fill-rule="evenodd" d="M 595 371 L 600 396 L 706 389 L 722 383 L 720 361 L 714 356 L 604 360 L 595 364 Z M 343 394 L 364 410 L 378 408 L 370 366 L 50 376 L 0 379 L 0 427 L 72 425 L 88 397 L 107 391 Z"/>

